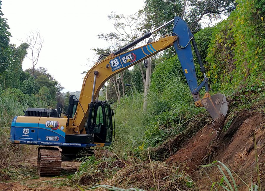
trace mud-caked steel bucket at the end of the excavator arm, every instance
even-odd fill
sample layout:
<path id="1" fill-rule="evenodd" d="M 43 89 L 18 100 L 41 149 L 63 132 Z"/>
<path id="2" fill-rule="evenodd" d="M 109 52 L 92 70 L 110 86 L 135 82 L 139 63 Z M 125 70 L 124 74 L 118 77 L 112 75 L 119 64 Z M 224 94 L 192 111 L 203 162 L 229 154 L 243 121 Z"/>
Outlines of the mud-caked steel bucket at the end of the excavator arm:
<path id="1" fill-rule="evenodd" d="M 211 97 L 201 99 L 201 103 L 211 114 L 213 118 L 213 128 L 217 131 L 218 136 L 219 132 L 223 129 L 228 114 L 229 102 L 227 101 L 226 96 L 217 93 Z"/>

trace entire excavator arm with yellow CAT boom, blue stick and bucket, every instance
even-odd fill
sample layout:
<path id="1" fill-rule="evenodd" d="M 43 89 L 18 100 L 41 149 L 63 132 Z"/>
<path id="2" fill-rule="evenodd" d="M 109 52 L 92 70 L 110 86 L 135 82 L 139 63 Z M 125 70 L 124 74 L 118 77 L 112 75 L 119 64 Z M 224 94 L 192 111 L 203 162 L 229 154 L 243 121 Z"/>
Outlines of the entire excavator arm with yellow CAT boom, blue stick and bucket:
<path id="1" fill-rule="evenodd" d="M 129 48 L 135 46 L 140 41 L 143 41 L 144 39 L 150 37 L 152 33 L 160 30 L 161 28 L 167 26 L 168 24 L 171 24 L 172 22 L 174 22 L 172 33 L 164 37 L 161 37 L 155 42 L 151 42 L 144 46 L 127 51 Z M 153 56 L 154 54 L 162 50 L 165 50 L 171 46 L 175 47 L 175 51 L 178 54 L 181 67 L 183 69 L 183 73 L 187 80 L 188 86 L 191 90 L 191 94 L 193 96 L 195 105 L 197 107 L 205 107 L 206 110 L 208 110 L 208 112 L 211 114 L 213 118 L 214 121 L 213 124 L 218 134 L 218 132 L 222 130 L 224 119 L 226 118 L 226 115 L 228 113 L 228 101 L 226 99 L 226 96 L 224 96 L 223 94 L 215 94 L 214 96 L 210 95 L 208 88 L 208 78 L 206 77 L 205 74 L 206 71 L 203 66 L 202 59 L 198 51 L 194 36 L 191 33 L 191 30 L 189 29 L 187 23 L 178 16 L 176 16 L 174 19 L 164 24 L 163 26 L 160 26 L 158 29 L 155 29 L 152 32 L 145 33 L 145 35 L 143 35 L 142 37 L 120 48 L 119 50 L 112 53 L 102 54 L 100 56 L 95 66 L 93 66 L 90 69 L 90 71 L 88 71 L 87 76 L 85 77 L 83 83 L 81 96 L 80 96 L 81 104 L 83 100 L 87 101 L 87 98 L 90 96 L 89 95 L 90 93 L 85 90 L 90 89 L 88 86 L 91 83 L 86 83 L 86 81 L 89 81 L 86 79 L 90 79 L 91 82 L 92 79 L 94 79 L 91 103 L 89 104 L 90 105 L 89 108 L 87 108 L 89 109 L 88 124 L 91 123 L 90 120 L 92 119 L 92 113 L 94 110 L 94 101 L 95 98 L 98 96 L 98 92 L 102 87 L 102 84 L 104 84 L 109 78 L 111 78 L 115 74 L 120 73 L 126 68 L 129 68 L 135 65 L 136 63 L 143 61 L 146 58 Z M 199 85 L 193 61 L 192 46 L 194 48 L 196 57 L 198 58 L 198 62 L 200 64 L 200 70 L 204 76 L 204 79 Z M 103 56 L 107 56 L 107 58 L 100 61 L 100 59 Z M 105 68 L 104 71 L 102 71 L 102 68 Z M 102 75 L 100 76 L 100 73 L 102 73 L 103 76 Z M 203 87 L 205 87 L 206 92 L 203 98 L 200 99 L 199 91 Z M 87 103 L 84 102 L 83 105 L 87 105 Z M 80 108 L 79 109 L 77 108 L 77 115 L 76 118 L 74 117 L 73 122 L 76 126 L 82 127 L 82 123 L 85 123 L 85 121 L 84 117 L 80 118 L 80 116 L 83 116 L 83 114 Z M 90 131 L 90 125 L 87 130 Z M 93 130 L 93 127 L 91 128 L 91 130 Z"/>

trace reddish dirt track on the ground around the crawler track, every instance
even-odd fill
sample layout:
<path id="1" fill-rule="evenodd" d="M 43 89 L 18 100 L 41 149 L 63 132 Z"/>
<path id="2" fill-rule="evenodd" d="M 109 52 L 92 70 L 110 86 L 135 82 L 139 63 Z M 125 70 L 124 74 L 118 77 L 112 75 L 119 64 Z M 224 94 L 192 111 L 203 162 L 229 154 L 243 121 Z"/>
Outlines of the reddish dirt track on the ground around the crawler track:
<path id="1" fill-rule="evenodd" d="M 1 191 L 65 191 L 79 190 L 63 181 L 77 171 L 80 162 L 62 162 L 62 176 L 38 177 L 37 155 L 21 161 L 17 166 L 5 168 L 6 174 L 0 179 Z M 21 170 L 23 169 L 23 170 Z M 21 170 L 21 171 L 20 171 Z M 1 173 L 0 173 L 1 178 Z"/>

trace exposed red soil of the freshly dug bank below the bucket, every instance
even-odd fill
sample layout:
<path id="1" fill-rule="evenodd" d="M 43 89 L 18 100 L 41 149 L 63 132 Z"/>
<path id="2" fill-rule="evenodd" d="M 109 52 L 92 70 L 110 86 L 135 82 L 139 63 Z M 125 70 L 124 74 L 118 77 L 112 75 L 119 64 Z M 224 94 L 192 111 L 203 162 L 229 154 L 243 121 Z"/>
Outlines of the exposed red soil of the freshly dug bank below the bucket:
<path id="1" fill-rule="evenodd" d="M 256 133 L 256 142 L 259 155 L 261 187 L 265 187 L 265 117 L 264 112 L 242 112 L 232 121 L 226 133 L 222 133 L 216 141 L 216 133 L 211 125 L 206 126 L 191 138 L 185 147 L 178 150 L 168 163 L 178 163 L 185 168 L 197 181 L 201 190 L 211 190 L 211 181 L 220 181 L 221 173 L 217 167 L 198 169 L 219 160 L 236 172 L 246 183 L 256 181 L 254 144 L 252 134 Z M 187 168 L 188 167 L 188 168 Z M 206 174 L 207 173 L 207 174 Z M 208 177 L 209 176 L 209 177 Z M 245 190 L 246 186 L 234 175 L 238 190 Z M 241 187 L 240 187 L 241 186 Z"/>

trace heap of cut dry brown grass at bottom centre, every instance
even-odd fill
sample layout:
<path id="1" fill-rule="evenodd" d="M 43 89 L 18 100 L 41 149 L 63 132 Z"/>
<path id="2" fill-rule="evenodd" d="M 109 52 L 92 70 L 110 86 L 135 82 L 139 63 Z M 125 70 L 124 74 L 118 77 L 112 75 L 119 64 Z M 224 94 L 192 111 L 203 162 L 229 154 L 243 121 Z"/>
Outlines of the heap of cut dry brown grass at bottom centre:
<path id="1" fill-rule="evenodd" d="M 197 190 L 195 184 L 184 171 L 179 172 L 178 167 L 158 161 L 126 166 L 118 171 L 112 179 L 106 179 L 101 184 L 125 189 Z M 96 191 L 102 190 L 106 189 L 102 187 L 96 189 Z"/>

